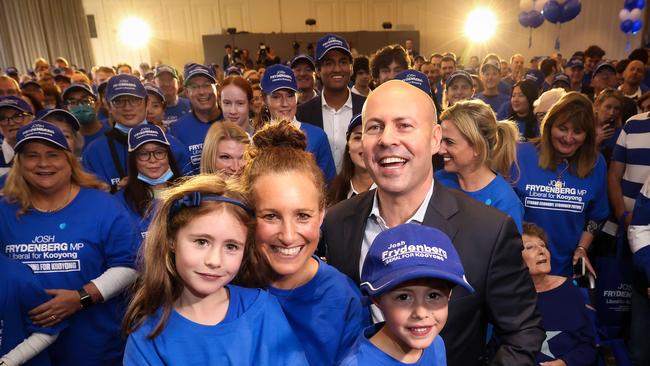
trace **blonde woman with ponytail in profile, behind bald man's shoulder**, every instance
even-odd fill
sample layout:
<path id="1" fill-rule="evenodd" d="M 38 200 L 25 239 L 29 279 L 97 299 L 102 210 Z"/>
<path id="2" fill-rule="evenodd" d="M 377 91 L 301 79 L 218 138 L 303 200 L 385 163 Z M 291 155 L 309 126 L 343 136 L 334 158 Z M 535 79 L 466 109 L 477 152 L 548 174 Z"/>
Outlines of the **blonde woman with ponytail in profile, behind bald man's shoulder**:
<path id="1" fill-rule="evenodd" d="M 510 215 L 521 232 L 524 208 L 506 181 L 517 156 L 515 124 L 497 122 L 492 108 L 480 100 L 457 102 L 440 120 L 444 169 L 436 179 Z"/>

